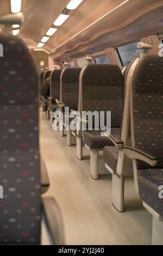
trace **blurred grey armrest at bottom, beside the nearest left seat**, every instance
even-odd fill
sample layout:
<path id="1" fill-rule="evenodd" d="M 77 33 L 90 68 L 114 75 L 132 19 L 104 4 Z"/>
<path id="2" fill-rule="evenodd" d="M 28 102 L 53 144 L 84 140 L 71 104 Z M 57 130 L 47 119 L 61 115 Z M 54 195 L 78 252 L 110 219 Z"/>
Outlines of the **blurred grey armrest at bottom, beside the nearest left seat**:
<path id="1" fill-rule="evenodd" d="M 42 206 L 46 228 L 51 236 L 53 245 L 64 245 L 64 224 L 58 203 L 52 197 L 43 197 Z"/>

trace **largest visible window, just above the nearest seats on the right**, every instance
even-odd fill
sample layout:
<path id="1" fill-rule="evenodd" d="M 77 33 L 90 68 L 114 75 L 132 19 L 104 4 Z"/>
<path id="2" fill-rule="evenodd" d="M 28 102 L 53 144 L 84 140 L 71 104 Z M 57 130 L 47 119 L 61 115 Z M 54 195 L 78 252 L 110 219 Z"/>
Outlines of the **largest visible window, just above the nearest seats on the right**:
<path id="1" fill-rule="evenodd" d="M 129 65 L 134 57 L 138 57 L 140 52 L 143 52 L 142 49 L 137 49 L 137 44 L 139 44 L 139 42 L 140 41 L 123 45 L 116 49 L 123 66 Z"/>

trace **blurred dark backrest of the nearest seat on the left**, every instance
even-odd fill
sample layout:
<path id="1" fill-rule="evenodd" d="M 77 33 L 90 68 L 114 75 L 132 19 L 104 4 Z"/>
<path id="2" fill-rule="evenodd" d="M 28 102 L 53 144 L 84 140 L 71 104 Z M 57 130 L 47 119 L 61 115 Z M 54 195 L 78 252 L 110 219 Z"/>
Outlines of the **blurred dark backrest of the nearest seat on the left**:
<path id="1" fill-rule="evenodd" d="M 0 244 L 39 244 L 39 79 L 20 38 L 0 36 L 0 42 Z"/>

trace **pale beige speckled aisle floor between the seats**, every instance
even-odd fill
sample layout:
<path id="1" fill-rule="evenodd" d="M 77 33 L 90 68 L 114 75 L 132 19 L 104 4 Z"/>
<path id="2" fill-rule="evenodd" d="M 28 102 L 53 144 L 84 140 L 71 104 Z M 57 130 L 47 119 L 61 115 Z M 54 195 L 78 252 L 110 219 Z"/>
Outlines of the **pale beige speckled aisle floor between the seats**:
<path id="1" fill-rule="evenodd" d="M 99 180 L 90 176 L 90 154 L 76 158 L 75 141 L 67 147 L 66 136 L 52 130 L 47 116 L 40 118 L 41 154 L 46 162 L 51 186 L 45 196 L 57 199 L 64 218 L 67 245 L 149 245 L 152 216 L 142 206 L 134 180 L 125 183 L 125 212 L 111 204 L 112 176 L 99 161 Z M 101 155 L 102 156 L 102 155 Z M 43 230 L 42 244 L 47 244 Z"/>

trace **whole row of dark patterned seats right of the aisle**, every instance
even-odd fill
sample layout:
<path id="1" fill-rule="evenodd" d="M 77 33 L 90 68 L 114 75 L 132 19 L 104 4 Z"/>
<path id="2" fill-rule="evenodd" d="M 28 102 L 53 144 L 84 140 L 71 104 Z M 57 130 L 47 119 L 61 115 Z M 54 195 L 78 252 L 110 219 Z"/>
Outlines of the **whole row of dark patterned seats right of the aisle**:
<path id="1" fill-rule="evenodd" d="M 83 144 L 90 151 L 90 175 L 95 180 L 98 153 L 103 150 L 106 169 L 112 174 L 112 204 L 120 212 L 124 211 L 124 178 L 134 174 L 136 191 L 153 215 L 152 243 L 162 244 L 163 58 L 149 55 L 147 44 L 137 47 L 145 54 L 122 71 L 117 65 L 89 63 L 82 70 L 66 66 L 59 79 L 53 70 L 49 111 L 51 121 L 60 121 L 60 135 L 67 131 L 68 146 L 72 135 L 76 137 L 79 160 Z M 60 109 L 62 119 L 53 113 L 55 109 Z"/>

